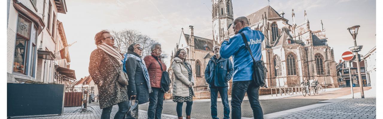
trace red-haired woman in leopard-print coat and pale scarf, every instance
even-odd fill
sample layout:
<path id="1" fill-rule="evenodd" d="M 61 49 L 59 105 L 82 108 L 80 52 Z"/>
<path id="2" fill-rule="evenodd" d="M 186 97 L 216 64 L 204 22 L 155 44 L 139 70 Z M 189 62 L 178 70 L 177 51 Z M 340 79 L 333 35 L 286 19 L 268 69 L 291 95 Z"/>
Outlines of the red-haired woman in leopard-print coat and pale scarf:
<path id="1" fill-rule="evenodd" d="M 98 88 L 98 100 L 102 109 L 101 119 L 110 119 L 113 105 L 118 105 L 114 119 L 123 119 L 129 109 L 126 86 L 118 83 L 119 71 L 122 70 L 123 54 L 115 45 L 115 39 L 106 30 L 95 36 L 97 49 L 90 54 L 89 74 Z"/>

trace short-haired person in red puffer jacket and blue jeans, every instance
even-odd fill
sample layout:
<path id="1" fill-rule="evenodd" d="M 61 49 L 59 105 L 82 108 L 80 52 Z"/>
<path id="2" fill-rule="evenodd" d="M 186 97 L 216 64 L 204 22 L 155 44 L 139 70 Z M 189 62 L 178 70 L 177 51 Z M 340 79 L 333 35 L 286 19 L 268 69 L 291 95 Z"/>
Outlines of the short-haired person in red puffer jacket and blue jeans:
<path id="1" fill-rule="evenodd" d="M 164 103 L 164 91 L 161 90 L 162 72 L 166 71 L 166 65 L 161 60 L 161 44 L 154 43 L 151 46 L 151 55 L 145 56 L 144 61 L 149 72 L 150 85 L 153 92 L 149 94 L 148 119 L 160 119 L 162 104 Z M 162 69 L 161 69 L 162 66 Z"/>

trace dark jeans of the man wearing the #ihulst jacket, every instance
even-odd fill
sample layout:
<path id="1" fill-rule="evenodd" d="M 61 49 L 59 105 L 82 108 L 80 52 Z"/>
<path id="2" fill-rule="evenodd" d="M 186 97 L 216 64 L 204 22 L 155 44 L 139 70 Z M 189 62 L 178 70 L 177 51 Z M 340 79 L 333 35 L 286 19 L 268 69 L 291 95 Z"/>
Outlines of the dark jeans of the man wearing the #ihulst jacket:
<path id="1" fill-rule="evenodd" d="M 231 118 L 241 119 L 241 103 L 247 93 L 254 119 L 263 119 L 263 111 L 259 103 L 259 86 L 253 80 L 235 81 L 231 92 Z"/>

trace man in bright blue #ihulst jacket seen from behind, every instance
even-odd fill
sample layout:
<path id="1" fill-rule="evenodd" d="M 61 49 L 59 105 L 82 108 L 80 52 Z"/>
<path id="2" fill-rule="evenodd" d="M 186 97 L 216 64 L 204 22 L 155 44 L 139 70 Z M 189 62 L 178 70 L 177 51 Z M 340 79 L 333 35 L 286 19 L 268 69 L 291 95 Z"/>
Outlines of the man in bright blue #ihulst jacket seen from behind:
<path id="1" fill-rule="evenodd" d="M 242 36 L 244 33 L 247 43 L 254 56 L 255 61 L 261 59 L 261 43 L 264 35 L 260 31 L 251 30 L 249 20 L 242 16 L 234 20 L 234 35 L 229 40 L 225 40 L 221 44 L 221 57 L 229 58 L 233 56 L 234 76 L 231 92 L 231 117 L 232 119 L 241 119 L 241 103 L 247 93 L 251 109 L 253 110 L 254 119 L 263 119 L 263 111 L 259 104 L 259 85 L 256 85 L 253 75 L 253 59 L 247 50 Z"/>

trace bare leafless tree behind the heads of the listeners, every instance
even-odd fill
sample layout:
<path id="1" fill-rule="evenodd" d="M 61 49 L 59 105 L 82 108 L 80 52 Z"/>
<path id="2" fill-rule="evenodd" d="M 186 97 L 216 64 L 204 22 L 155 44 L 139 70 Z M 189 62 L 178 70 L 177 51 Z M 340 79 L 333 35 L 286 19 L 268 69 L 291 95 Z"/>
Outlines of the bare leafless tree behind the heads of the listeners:
<path id="1" fill-rule="evenodd" d="M 122 31 L 111 31 L 111 35 L 115 38 L 117 47 L 122 53 L 128 51 L 129 45 L 132 43 L 139 43 L 142 47 L 142 57 L 150 55 L 151 44 L 155 42 L 148 35 L 144 35 L 136 30 L 122 30 Z"/>

